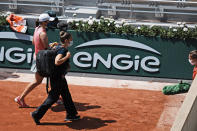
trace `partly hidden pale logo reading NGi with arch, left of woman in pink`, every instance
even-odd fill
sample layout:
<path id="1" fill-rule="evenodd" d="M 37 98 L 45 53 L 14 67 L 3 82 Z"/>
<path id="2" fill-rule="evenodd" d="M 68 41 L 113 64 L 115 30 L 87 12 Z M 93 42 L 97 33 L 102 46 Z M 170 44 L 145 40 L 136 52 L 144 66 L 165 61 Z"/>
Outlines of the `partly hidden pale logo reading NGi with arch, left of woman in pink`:
<path id="1" fill-rule="evenodd" d="M 13 45 L 15 42 L 13 40 L 16 40 L 16 42 L 25 41 L 31 43 L 33 36 L 15 32 L 0 32 L 0 39 L 6 39 L 6 44 L 1 43 L 2 46 L 0 46 L 0 64 L 5 64 L 7 63 L 6 61 L 12 65 L 18 65 L 20 63 L 30 64 L 32 62 L 32 57 L 34 54 L 32 47 L 29 47 L 29 45 L 25 44 L 22 46 L 20 45 L 21 47 L 17 47 L 18 43 L 16 43 L 14 46 L 11 45 Z M 25 49 L 25 47 L 28 48 Z"/>

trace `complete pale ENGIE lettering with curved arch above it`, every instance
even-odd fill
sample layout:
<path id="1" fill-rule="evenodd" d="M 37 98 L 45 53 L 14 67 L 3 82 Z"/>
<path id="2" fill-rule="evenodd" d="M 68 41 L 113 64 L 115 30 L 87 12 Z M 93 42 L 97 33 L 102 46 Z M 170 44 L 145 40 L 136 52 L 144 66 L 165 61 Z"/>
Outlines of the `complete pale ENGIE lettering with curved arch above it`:
<path id="1" fill-rule="evenodd" d="M 142 43 L 126 39 L 108 38 L 89 41 L 76 46 L 75 49 L 83 49 L 85 47 L 91 49 L 91 47 L 93 46 L 96 46 L 97 48 L 99 48 L 99 46 L 106 46 L 106 48 L 109 48 L 109 50 L 113 49 L 113 47 L 118 46 L 124 48 L 134 48 L 151 52 L 155 55 L 145 56 L 141 58 L 139 54 L 131 56 L 127 53 L 122 53 L 112 56 L 110 50 L 109 52 L 106 52 L 107 57 L 103 58 L 100 52 L 90 53 L 88 51 L 80 51 L 75 53 L 73 56 L 73 63 L 75 66 L 83 69 L 96 68 L 98 66 L 98 62 L 101 62 L 107 69 L 115 68 L 120 71 L 134 69 L 135 71 L 138 71 L 140 68 L 142 68 L 144 71 L 150 73 L 159 71 L 161 63 L 156 56 L 160 56 L 161 53 Z"/>

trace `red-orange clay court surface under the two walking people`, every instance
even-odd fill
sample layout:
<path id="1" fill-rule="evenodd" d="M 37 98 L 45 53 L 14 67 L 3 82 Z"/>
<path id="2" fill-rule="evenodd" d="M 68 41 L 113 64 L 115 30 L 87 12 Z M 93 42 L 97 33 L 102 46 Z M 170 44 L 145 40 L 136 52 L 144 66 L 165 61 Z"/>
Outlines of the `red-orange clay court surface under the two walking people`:
<path id="1" fill-rule="evenodd" d="M 31 108 L 18 108 L 14 98 L 27 84 L 0 81 L 0 131 L 152 131 L 168 101 L 158 91 L 69 85 L 81 120 L 64 122 L 64 107 L 54 104 L 36 126 L 29 114 L 47 94 L 42 84 L 26 97 Z"/>

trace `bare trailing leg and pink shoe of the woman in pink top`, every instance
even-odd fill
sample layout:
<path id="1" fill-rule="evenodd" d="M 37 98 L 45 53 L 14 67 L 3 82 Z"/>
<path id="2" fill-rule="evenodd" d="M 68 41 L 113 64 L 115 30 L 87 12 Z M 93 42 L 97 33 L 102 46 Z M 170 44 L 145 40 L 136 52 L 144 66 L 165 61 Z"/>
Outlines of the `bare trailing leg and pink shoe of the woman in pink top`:
<path id="1" fill-rule="evenodd" d="M 43 77 L 39 75 L 38 72 L 35 73 L 35 80 L 27 85 L 22 94 L 15 98 L 15 101 L 20 105 L 20 107 L 27 107 L 24 98 L 43 80 Z"/>

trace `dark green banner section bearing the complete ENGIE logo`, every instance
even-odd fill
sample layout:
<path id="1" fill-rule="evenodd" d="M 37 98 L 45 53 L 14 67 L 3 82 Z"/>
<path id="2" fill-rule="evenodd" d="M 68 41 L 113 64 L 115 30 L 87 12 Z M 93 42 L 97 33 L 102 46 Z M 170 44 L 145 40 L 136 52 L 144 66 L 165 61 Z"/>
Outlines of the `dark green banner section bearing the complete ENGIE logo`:
<path id="1" fill-rule="evenodd" d="M 188 54 L 196 41 L 70 31 L 72 71 L 191 79 Z"/>

